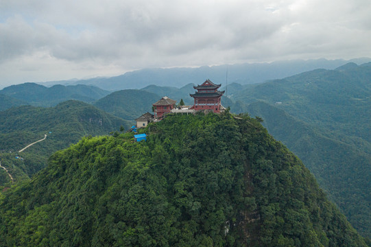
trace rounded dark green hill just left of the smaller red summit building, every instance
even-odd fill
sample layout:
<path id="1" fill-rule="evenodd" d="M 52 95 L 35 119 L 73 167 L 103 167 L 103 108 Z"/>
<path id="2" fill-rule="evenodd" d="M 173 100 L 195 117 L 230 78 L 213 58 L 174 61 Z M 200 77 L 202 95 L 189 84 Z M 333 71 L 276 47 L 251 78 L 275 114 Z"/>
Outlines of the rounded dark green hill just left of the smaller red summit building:
<path id="1" fill-rule="evenodd" d="M 94 106 L 117 117 L 134 121 L 143 113 L 152 113 L 152 104 L 165 95 L 156 95 L 143 90 L 121 90 L 99 99 Z"/>

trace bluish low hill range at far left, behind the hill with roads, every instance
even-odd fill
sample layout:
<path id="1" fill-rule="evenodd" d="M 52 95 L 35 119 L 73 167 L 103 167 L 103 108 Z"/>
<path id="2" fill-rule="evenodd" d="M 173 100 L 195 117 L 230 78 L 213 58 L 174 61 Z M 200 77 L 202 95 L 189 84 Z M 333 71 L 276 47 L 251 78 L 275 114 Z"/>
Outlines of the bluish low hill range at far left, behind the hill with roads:
<path id="1" fill-rule="evenodd" d="M 8 86 L 1 90 L 0 93 L 22 100 L 33 106 L 55 106 L 69 99 L 92 103 L 110 92 L 99 89 L 96 86 L 80 84 L 75 86 L 54 85 L 48 88 L 40 84 L 27 82 Z"/>

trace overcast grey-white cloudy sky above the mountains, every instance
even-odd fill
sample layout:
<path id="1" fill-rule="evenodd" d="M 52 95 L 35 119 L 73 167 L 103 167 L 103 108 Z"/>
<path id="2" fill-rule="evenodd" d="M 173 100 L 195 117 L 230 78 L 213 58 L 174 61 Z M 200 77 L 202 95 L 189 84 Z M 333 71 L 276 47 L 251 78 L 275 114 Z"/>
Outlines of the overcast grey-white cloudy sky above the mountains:
<path id="1" fill-rule="evenodd" d="M 371 57 L 370 0 L 0 0 L 0 88 L 288 59 Z"/>

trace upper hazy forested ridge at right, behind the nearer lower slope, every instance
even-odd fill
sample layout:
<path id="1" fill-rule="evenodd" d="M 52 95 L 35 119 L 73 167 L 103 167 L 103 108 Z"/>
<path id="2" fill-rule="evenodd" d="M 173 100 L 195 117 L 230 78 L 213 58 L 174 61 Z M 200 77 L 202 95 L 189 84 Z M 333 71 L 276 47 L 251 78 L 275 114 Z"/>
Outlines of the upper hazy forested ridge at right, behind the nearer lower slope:
<path id="1" fill-rule="evenodd" d="M 311 124 L 371 141 L 371 67 L 317 69 L 251 86 L 235 95 L 265 101 Z"/>

